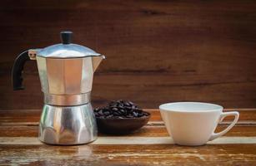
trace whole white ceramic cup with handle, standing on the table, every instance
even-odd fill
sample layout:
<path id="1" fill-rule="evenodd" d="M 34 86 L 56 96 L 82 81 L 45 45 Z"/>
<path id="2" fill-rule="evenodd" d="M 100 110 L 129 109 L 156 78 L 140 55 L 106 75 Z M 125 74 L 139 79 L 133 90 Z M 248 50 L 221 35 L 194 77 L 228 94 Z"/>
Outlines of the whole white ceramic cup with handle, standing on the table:
<path id="1" fill-rule="evenodd" d="M 168 134 L 175 144 L 197 146 L 226 134 L 238 121 L 237 111 L 223 112 L 223 107 L 209 103 L 177 102 L 159 106 Z M 233 115 L 226 129 L 214 133 L 219 122 Z"/>

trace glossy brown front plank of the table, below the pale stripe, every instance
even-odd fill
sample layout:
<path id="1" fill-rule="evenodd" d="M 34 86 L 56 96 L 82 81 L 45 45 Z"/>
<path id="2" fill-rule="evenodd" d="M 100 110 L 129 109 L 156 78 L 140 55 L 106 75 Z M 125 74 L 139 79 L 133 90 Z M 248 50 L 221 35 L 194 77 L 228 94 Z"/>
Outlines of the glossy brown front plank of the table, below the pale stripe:
<path id="1" fill-rule="evenodd" d="M 4 165 L 254 165 L 255 144 L 0 145 Z M 18 157 L 17 157 L 18 156 Z"/>

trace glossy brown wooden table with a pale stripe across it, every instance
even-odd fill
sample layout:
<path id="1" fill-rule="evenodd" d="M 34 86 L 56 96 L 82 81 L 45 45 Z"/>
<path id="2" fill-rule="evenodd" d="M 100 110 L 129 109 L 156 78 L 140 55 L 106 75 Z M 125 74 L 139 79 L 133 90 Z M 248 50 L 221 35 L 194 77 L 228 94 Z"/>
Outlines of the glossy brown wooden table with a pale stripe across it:
<path id="1" fill-rule="evenodd" d="M 148 111 L 148 125 L 133 134 L 50 146 L 37 138 L 41 110 L 0 110 L 0 165 L 256 165 L 256 109 L 239 109 L 239 122 L 228 134 L 199 147 L 173 144 L 159 111 Z"/>

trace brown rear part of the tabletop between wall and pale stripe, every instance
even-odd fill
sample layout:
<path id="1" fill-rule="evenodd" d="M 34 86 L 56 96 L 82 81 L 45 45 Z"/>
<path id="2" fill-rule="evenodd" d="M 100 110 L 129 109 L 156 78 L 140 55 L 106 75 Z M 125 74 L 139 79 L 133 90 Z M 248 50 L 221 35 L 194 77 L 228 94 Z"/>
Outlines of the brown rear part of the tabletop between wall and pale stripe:
<path id="1" fill-rule="evenodd" d="M 168 136 L 159 110 L 146 109 L 151 114 L 148 125 L 128 134 L 129 136 L 157 137 Z M 226 109 L 224 111 L 233 111 Z M 238 109 L 240 117 L 238 124 L 231 129 L 227 136 L 256 136 L 256 109 Z M 38 121 L 41 110 L 0 110 L 0 137 L 36 137 L 38 136 Z M 216 131 L 226 128 L 232 118 L 223 120 Z M 106 136 L 106 134 L 99 134 Z"/>

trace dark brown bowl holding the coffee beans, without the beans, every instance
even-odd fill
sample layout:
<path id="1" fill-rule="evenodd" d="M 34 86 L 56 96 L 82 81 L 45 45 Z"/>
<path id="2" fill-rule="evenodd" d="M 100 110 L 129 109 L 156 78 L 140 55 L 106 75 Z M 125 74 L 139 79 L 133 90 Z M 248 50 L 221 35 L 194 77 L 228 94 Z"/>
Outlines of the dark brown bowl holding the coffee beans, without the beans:
<path id="1" fill-rule="evenodd" d="M 145 112 L 145 111 L 144 111 Z M 148 112 L 147 112 L 148 113 Z M 97 118 L 98 131 L 104 134 L 129 134 L 148 123 L 150 114 L 140 118 L 107 119 Z"/>

